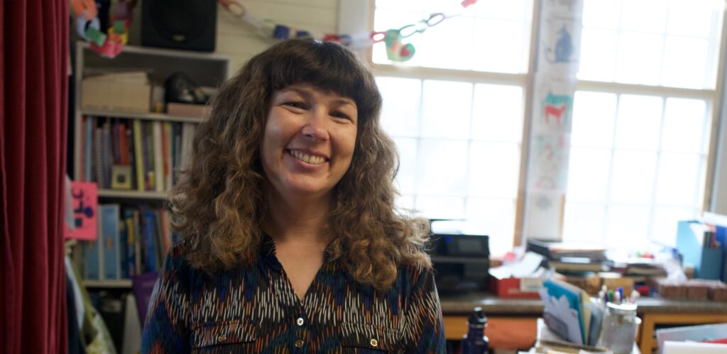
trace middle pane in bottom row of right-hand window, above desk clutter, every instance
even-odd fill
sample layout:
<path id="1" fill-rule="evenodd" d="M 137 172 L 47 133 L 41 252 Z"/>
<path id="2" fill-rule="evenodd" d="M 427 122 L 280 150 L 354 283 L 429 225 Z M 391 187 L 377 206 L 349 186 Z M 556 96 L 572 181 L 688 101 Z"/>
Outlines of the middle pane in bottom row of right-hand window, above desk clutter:
<path id="1" fill-rule="evenodd" d="M 648 206 L 611 204 L 608 211 L 606 246 L 643 249 L 648 244 Z"/>

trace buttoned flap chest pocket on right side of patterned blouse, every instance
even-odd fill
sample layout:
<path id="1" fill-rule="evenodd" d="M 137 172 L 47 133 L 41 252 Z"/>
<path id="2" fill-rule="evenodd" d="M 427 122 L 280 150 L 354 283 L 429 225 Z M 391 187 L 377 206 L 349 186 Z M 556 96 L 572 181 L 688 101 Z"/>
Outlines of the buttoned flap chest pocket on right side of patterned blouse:
<path id="1" fill-rule="evenodd" d="M 401 332 L 361 323 L 340 326 L 343 353 L 403 353 Z"/>

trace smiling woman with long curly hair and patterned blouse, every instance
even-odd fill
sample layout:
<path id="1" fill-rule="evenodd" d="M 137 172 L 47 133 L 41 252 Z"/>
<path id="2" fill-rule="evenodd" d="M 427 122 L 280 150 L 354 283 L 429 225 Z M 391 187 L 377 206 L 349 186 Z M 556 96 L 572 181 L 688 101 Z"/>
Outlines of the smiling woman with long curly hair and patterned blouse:
<path id="1" fill-rule="evenodd" d="M 223 85 L 172 192 L 174 246 L 142 351 L 443 353 L 426 228 L 397 214 L 398 161 L 369 68 L 293 39 Z"/>

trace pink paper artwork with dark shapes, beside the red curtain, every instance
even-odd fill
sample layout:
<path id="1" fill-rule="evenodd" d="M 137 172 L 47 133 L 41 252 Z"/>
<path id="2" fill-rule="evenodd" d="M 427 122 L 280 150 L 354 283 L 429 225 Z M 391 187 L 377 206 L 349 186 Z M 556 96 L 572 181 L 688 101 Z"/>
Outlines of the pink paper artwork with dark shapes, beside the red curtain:
<path id="1" fill-rule="evenodd" d="M 71 198 L 73 199 L 74 230 L 65 226 L 65 238 L 79 240 L 96 239 L 96 207 L 97 186 L 91 182 L 71 182 Z"/>

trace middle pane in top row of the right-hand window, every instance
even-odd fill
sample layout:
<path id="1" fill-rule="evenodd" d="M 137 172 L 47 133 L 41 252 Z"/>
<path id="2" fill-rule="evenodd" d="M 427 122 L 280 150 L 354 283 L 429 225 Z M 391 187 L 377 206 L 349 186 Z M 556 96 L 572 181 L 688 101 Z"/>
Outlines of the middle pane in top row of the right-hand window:
<path id="1" fill-rule="evenodd" d="M 621 28 L 627 31 L 662 33 L 667 21 L 667 1 L 625 0 Z"/>

